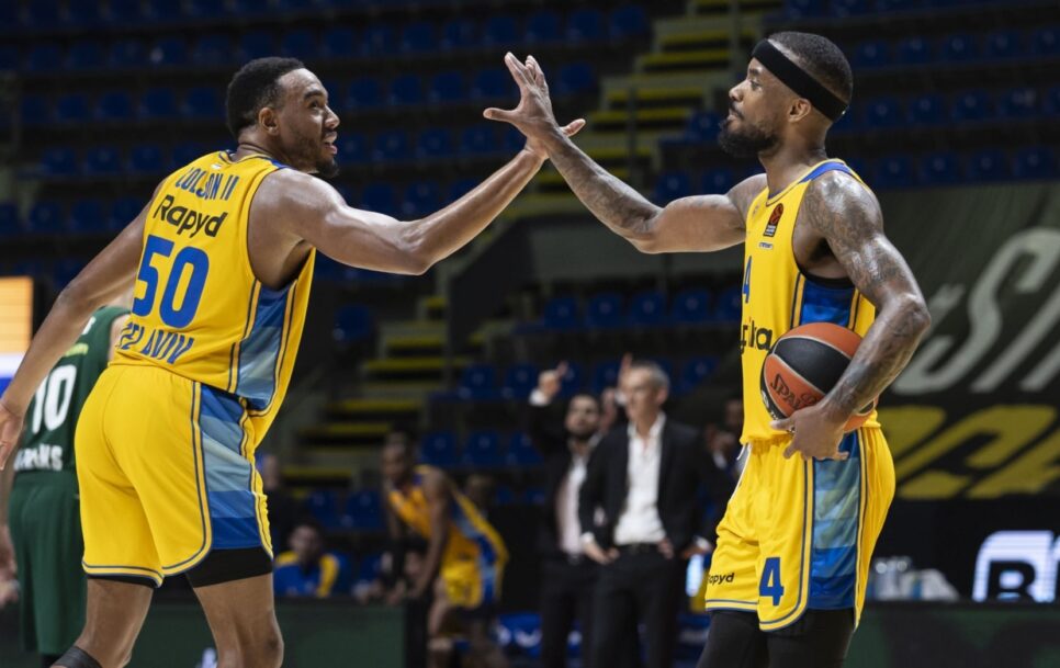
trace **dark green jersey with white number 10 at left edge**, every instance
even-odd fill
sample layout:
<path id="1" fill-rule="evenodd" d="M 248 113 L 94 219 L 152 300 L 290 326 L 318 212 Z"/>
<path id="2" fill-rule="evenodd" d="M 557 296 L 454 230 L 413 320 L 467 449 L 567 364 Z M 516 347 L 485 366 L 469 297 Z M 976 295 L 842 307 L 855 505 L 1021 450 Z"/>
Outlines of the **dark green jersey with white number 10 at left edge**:
<path id="1" fill-rule="evenodd" d="M 25 414 L 25 431 L 14 469 L 74 471 L 74 430 L 95 380 L 106 369 L 111 326 L 128 309 L 105 306 L 52 369 Z"/>

